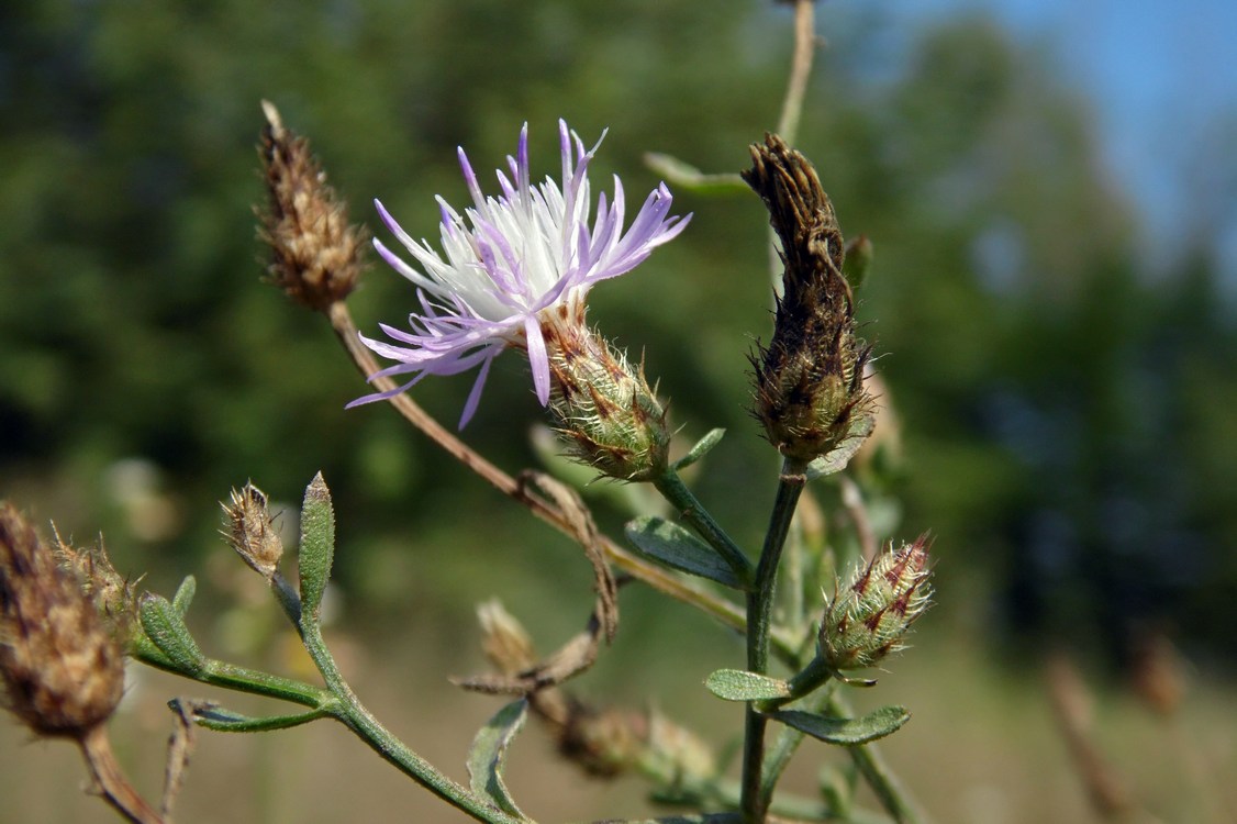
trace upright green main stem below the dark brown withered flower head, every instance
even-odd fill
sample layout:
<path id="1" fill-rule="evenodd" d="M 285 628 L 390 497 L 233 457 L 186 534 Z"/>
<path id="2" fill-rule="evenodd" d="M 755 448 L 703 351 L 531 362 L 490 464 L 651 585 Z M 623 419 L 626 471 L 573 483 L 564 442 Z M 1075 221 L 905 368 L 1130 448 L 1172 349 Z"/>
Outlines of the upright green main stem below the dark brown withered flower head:
<path id="1" fill-rule="evenodd" d="M 777 568 L 782 559 L 785 536 L 790 531 L 790 518 L 799 502 L 799 495 L 808 483 L 805 464 L 787 458 L 778 479 L 777 499 L 769 516 L 769 528 L 764 534 L 764 547 L 756 567 L 756 580 L 747 593 L 747 671 L 763 674 L 768 669 L 769 630 L 773 624 L 773 600 L 777 589 Z M 768 807 L 768 797 L 761 787 L 764 767 L 764 727 L 768 719 L 747 704 L 743 724 L 743 778 L 742 809 L 748 824 L 761 824 Z"/>

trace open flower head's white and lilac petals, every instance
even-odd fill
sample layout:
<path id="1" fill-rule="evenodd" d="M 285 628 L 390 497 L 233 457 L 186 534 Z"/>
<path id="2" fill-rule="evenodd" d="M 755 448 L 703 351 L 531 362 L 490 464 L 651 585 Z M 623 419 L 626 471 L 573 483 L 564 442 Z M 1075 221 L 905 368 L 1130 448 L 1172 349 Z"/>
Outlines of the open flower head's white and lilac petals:
<path id="1" fill-rule="evenodd" d="M 455 375 L 480 367 L 460 417 L 463 428 L 476 411 L 490 364 L 508 346 L 528 354 L 537 400 L 546 406 L 550 393 L 546 329 L 584 324 L 585 296 L 594 283 L 631 271 L 657 246 L 675 238 L 688 224 L 669 217 L 670 192 L 654 189 L 623 234 L 623 191 L 615 177 L 614 200 L 597 198 L 596 218 L 589 225 L 589 161 L 597 146 L 584 141 L 559 120 L 563 188 L 553 178 L 532 186 L 528 179 L 528 125 L 520 132 L 516 157 L 507 157 L 508 178 L 497 173 L 502 193 L 481 194 L 476 174 L 459 150 L 460 167 L 473 205 L 461 215 L 443 198 L 442 246 L 413 240 L 375 202 L 379 214 L 419 268 L 381 241 L 374 247 L 397 272 L 417 287 L 419 312 L 408 315 L 409 332 L 380 324 L 393 343 L 361 337 L 366 346 L 395 363 L 370 376 L 411 375 L 396 388 L 366 395 L 349 403 L 381 401 L 406 391 L 426 375 Z M 602 139 L 605 135 L 602 134 Z"/>

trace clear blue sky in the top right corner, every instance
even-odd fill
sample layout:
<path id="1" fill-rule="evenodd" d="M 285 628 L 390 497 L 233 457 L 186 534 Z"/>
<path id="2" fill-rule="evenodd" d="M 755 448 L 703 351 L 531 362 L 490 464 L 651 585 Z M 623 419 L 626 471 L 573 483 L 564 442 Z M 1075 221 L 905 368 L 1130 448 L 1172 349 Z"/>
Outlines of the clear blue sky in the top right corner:
<path id="1" fill-rule="evenodd" d="M 1108 173 L 1159 228 L 1160 244 L 1204 217 L 1220 220 L 1226 281 L 1237 294 L 1237 0 L 884 5 L 915 16 L 982 11 L 1048 48 L 1063 79 L 1092 101 Z M 1223 163 L 1207 168 L 1205 157 Z"/>

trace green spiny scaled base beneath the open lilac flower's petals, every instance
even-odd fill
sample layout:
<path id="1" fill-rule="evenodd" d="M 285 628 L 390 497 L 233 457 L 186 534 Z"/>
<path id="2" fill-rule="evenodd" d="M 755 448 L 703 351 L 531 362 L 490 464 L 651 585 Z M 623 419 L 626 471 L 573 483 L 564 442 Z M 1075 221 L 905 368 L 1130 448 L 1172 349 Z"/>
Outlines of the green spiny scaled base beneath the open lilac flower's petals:
<path id="1" fill-rule="evenodd" d="M 643 366 L 632 369 L 583 318 L 546 323 L 542 332 L 550 371 L 548 408 L 568 454 L 625 481 L 666 471 L 670 432 Z"/>

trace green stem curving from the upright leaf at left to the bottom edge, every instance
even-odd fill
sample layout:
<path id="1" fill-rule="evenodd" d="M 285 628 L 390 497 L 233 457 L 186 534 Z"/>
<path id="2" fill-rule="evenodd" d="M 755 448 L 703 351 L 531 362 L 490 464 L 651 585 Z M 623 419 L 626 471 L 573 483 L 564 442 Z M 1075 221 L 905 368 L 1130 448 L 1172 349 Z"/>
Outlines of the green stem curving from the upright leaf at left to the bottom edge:
<path id="1" fill-rule="evenodd" d="M 335 658 L 330 654 L 322 637 L 322 627 L 317 622 L 312 619 L 303 620 L 301 637 L 314 664 L 317 664 L 318 672 L 322 673 L 323 680 L 327 682 L 327 688 L 340 702 L 332 714 L 375 752 L 386 758 L 400 772 L 479 822 L 489 822 L 490 824 L 517 824 L 520 822 L 520 819 L 503 813 L 444 776 L 382 726 L 344 680 L 335 664 Z"/>

